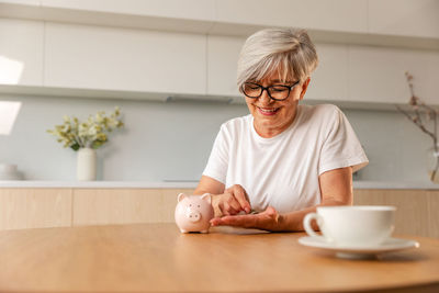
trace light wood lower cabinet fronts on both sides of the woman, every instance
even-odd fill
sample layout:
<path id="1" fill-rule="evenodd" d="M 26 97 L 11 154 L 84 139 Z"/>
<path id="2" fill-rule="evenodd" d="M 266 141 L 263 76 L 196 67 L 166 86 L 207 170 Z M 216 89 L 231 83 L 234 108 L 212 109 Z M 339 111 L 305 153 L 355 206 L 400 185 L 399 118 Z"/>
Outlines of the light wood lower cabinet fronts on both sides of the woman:
<path id="1" fill-rule="evenodd" d="M 0 189 L 0 230 L 173 223 L 177 195 L 193 189 Z M 359 205 L 395 205 L 397 234 L 439 238 L 439 191 L 354 190 Z"/>

